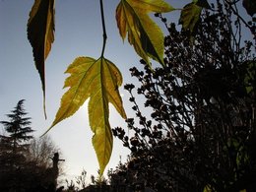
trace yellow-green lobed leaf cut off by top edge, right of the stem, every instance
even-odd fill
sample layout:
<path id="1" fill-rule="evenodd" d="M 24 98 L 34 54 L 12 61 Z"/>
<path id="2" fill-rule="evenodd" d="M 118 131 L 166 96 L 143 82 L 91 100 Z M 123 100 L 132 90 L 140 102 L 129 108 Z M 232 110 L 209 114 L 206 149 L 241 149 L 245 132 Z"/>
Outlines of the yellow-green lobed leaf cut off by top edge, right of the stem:
<path id="1" fill-rule="evenodd" d="M 128 41 L 149 64 L 149 57 L 163 64 L 163 34 L 149 17 L 151 12 L 174 10 L 162 0 L 121 0 L 116 8 L 116 21 L 121 37 Z"/>

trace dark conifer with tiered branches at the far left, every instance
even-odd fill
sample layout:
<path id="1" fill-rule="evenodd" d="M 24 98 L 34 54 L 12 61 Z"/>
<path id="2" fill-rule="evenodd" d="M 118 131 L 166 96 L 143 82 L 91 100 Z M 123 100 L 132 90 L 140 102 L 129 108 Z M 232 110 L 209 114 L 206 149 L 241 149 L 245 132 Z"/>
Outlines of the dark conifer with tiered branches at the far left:
<path id="1" fill-rule="evenodd" d="M 9 121 L 0 121 L 7 133 L 7 135 L 0 135 L 0 180 L 1 183 L 5 183 L 2 186 L 9 189 L 20 188 L 22 185 L 19 173 L 25 166 L 26 151 L 32 139 L 31 118 L 26 117 L 28 113 L 24 109 L 24 101 L 21 99 L 11 113 L 7 114 Z"/>

